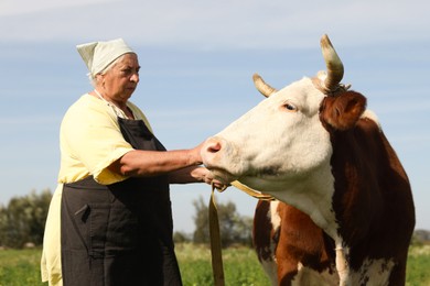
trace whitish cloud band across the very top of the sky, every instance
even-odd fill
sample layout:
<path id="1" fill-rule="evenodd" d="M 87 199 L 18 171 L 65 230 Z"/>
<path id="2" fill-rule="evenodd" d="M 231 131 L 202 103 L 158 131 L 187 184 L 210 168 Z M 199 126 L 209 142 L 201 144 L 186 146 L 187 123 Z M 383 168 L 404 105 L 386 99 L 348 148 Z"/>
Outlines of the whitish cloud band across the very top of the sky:
<path id="1" fill-rule="evenodd" d="M 0 25 L 10 26 L 0 31 L 1 41 L 76 42 L 120 35 L 144 45 L 195 48 L 313 47 L 323 33 L 348 45 L 429 40 L 430 26 L 424 0 L 8 0 L 0 11 Z"/>

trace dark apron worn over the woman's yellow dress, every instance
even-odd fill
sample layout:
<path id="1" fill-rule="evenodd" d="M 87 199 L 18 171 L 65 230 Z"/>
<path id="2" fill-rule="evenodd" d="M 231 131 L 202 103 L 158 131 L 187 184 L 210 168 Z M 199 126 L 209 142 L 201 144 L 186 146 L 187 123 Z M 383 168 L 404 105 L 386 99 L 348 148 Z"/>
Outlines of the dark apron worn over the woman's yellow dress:
<path id="1" fill-rule="evenodd" d="M 165 151 L 143 121 L 118 122 L 133 148 Z M 65 184 L 61 226 L 65 286 L 182 285 L 166 176 Z"/>

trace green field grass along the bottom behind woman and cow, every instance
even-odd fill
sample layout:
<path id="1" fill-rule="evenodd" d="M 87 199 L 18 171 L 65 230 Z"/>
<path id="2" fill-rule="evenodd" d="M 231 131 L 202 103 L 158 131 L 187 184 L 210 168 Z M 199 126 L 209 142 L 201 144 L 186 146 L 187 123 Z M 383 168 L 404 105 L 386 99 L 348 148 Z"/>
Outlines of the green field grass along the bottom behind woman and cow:
<path id="1" fill-rule="evenodd" d="M 213 285 L 208 248 L 179 244 L 176 254 L 184 286 Z M 46 286 L 41 283 L 40 258 L 40 249 L 0 251 L 0 286 Z M 223 261 L 226 285 L 270 285 L 254 250 L 241 246 L 224 250 Z M 430 285 L 430 245 L 410 249 L 406 285 Z"/>

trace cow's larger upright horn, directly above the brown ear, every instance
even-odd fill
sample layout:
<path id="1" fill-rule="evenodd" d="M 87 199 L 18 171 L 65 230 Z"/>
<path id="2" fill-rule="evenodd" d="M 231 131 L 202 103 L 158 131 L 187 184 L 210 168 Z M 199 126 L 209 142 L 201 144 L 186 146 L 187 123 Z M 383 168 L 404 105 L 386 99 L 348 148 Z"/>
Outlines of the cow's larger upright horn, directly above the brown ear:
<path id="1" fill-rule="evenodd" d="M 326 34 L 321 38 L 321 50 L 327 67 L 323 89 L 327 92 L 335 91 L 343 77 L 343 64 Z"/>

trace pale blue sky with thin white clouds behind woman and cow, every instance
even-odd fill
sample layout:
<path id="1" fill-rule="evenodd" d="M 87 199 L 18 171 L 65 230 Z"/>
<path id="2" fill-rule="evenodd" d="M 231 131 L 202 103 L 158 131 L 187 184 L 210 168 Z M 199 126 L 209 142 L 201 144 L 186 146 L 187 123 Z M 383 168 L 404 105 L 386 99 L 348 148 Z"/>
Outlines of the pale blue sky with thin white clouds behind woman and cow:
<path id="1" fill-rule="evenodd" d="M 139 55 L 131 101 L 169 150 L 219 132 L 262 97 L 324 69 L 320 38 L 341 56 L 343 82 L 367 97 L 408 173 L 417 229 L 430 230 L 430 3 L 320 0 L 1 0 L 0 204 L 56 186 L 62 117 L 92 90 L 77 44 L 122 37 Z M 203 184 L 171 187 L 176 231 L 194 230 Z M 256 200 L 217 194 L 251 217 Z"/>

